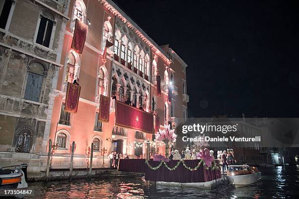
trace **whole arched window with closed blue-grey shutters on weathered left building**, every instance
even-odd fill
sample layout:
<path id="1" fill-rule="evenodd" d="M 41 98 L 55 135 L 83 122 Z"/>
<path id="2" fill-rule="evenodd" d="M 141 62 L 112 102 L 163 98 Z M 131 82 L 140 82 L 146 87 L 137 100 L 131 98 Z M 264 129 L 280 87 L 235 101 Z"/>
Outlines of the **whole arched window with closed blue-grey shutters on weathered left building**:
<path id="1" fill-rule="evenodd" d="M 33 62 L 28 66 L 27 83 L 24 93 L 25 100 L 35 102 L 40 101 L 40 95 L 43 87 L 43 76 L 45 68 L 38 62 Z"/>

